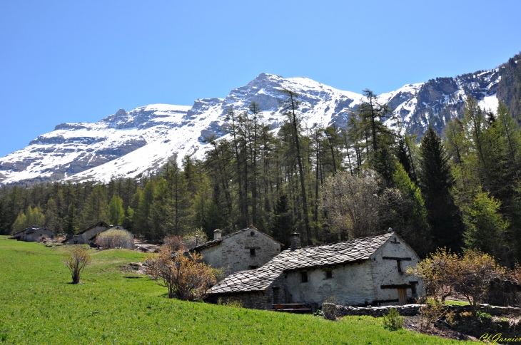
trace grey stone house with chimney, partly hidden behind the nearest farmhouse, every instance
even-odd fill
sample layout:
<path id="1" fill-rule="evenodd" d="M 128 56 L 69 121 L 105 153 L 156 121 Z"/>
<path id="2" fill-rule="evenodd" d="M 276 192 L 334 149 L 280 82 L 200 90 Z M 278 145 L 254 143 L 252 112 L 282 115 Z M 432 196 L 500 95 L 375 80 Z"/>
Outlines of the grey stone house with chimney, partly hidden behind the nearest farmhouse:
<path id="1" fill-rule="evenodd" d="M 221 236 L 213 232 L 213 240 L 190 249 L 203 255 L 203 262 L 213 268 L 224 267 L 227 273 L 257 269 L 280 254 L 283 244 L 251 226 Z"/>

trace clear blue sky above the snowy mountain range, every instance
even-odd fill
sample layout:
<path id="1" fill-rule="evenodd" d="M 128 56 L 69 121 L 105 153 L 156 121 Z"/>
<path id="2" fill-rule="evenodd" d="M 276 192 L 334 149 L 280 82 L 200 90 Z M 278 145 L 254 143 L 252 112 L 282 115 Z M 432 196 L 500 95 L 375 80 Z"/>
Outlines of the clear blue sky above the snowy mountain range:
<path id="1" fill-rule="evenodd" d="M 0 1 L 0 156 L 64 122 L 225 97 L 259 73 L 376 93 L 495 68 L 521 1 Z"/>

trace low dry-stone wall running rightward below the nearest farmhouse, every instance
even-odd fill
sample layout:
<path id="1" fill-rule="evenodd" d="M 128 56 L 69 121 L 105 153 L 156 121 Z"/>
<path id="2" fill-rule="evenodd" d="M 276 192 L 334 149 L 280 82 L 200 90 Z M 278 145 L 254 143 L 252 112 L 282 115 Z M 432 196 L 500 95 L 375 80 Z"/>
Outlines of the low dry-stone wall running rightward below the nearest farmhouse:
<path id="1" fill-rule="evenodd" d="M 334 306 L 334 307 L 333 307 Z M 385 306 L 385 307 L 346 307 L 346 306 L 335 306 L 332 303 L 324 303 L 323 308 L 334 308 L 336 316 L 375 316 L 380 317 L 384 314 L 388 314 L 391 308 L 398 311 L 398 314 L 402 316 L 415 316 L 420 314 L 420 307 L 423 304 L 407 304 L 405 306 Z M 463 312 L 472 311 L 472 306 L 447 306 L 455 314 L 461 314 Z M 487 305 L 480 305 L 477 307 L 477 311 L 481 311 L 492 316 L 521 316 L 520 308 L 512 307 L 490 307 Z"/>

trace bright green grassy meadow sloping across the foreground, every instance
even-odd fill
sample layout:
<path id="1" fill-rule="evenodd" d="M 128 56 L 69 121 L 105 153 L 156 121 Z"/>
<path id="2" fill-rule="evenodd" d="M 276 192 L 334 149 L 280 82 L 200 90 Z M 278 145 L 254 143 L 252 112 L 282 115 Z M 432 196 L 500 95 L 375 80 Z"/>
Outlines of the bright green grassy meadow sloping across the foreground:
<path id="1" fill-rule="evenodd" d="M 67 247 L 0 236 L 0 344 L 456 344 L 388 331 L 381 319 L 326 321 L 166 298 L 166 289 L 117 267 L 140 261 L 126 249 L 92 251 L 93 263 L 69 284 Z"/>

